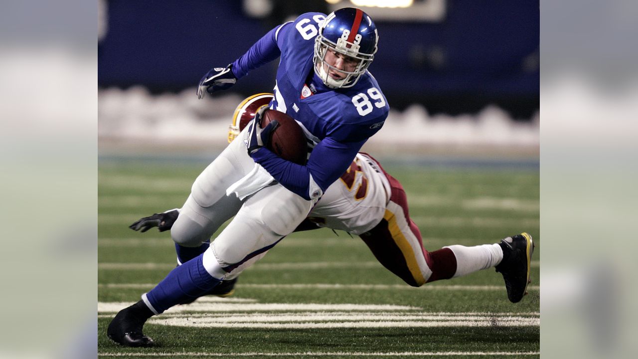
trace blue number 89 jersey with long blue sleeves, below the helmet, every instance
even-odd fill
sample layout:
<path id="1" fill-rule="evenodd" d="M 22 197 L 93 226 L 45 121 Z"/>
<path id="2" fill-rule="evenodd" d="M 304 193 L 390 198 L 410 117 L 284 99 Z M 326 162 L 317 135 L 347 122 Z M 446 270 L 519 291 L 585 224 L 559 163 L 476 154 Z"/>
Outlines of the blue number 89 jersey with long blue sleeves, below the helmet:
<path id="1" fill-rule="evenodd" d="M 315 38 L 323 19 L 322 13 L 305 13 L 275 27 L 233 64 L 239 79 L 281 57 L 271 108 L 297 120 L 316 146 L 306 165 L 286 161 L 266 148 L 256 151 L 253 159 L 305 199 L 322 195 L 350 167 L 361 146 L 383 126 L 389 111 L 369 72 L 345 89 L 328 88 L 315 75 Z"/>

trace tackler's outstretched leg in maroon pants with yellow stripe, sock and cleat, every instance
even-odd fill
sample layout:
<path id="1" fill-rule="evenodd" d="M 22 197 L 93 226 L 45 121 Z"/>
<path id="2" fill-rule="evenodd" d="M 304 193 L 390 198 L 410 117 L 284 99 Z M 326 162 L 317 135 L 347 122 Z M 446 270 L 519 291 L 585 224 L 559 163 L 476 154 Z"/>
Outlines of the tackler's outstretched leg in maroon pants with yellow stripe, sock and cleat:
<path id="1" fill-rule="evenodd" d="M 530 283 L 530 263 L 534 243 L 530 234 L 507 237 L 501 243 L 450 245 L 434 252 L 423 248 L 419 228 L 410 220 L 406 195 L 401 184 L 386 175 L 392 188 L 385 216 L 361 238 L 380 263 L 411 286 L 450 279 L 496 267 L 503 274 L 507 298 L 519 302 Z"/>

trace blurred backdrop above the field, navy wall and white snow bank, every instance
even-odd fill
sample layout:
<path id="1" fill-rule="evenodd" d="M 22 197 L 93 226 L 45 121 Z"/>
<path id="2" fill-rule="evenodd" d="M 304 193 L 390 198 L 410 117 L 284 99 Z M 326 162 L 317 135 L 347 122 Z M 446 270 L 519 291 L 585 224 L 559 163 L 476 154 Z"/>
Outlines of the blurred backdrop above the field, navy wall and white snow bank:
<path id="1" fill-rule="evenodd" d="M 392 109 L 364 149 L 538 161 L 539 9 L 523 0 L 101 0 L 100 154 L 210 157 L 242 98 L 272 91 L 277 63 L 205 100 L 200 77 L 277 24 L 345 6 L 375 19 L 370 70 Z"/>

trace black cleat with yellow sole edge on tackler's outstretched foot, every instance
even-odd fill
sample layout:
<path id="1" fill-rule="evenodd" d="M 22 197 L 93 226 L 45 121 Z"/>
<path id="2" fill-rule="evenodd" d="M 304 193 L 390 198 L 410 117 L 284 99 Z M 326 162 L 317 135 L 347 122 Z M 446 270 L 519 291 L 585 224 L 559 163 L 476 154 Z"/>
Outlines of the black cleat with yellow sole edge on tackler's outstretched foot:
<path id="1" fill-rule="evenodd" d="M 530 263 L 534 242 L 530 234 L 521 233 L 507 237 L 499 244 L 503 249 L 503 260 L 496 266 L 496 271 L 503 275 L 510 302 L 521 302 L 527 294 L 527 285 L 531 283 Z"/>

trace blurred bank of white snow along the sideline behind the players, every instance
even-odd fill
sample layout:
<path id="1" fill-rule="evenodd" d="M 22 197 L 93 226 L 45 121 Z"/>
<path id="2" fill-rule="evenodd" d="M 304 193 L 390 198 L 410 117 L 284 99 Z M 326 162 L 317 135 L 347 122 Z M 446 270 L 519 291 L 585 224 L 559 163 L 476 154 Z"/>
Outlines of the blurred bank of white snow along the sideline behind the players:
<path id="1" fill-rule="evenodd" d="M 98 136 L 130 142 L 193 142 L 225 145 L 228 125 L 243 97 L 228 93 L 198 100 L 195 89 L 151 95 L 142 86 L 98 91 Z M 431 115 L 422 105 L 404 111 L 390 109 L 383 130 L 368 142 L 373 146 L 459 145 L 537 147 L 540 114 L 529 122 L 514 121 L 494 105 L 477 114 Z"/>

